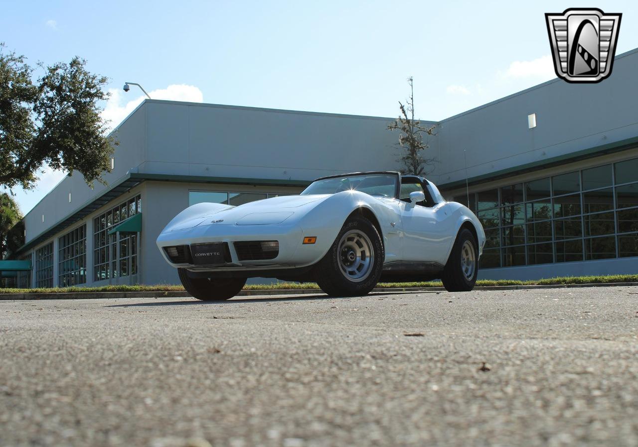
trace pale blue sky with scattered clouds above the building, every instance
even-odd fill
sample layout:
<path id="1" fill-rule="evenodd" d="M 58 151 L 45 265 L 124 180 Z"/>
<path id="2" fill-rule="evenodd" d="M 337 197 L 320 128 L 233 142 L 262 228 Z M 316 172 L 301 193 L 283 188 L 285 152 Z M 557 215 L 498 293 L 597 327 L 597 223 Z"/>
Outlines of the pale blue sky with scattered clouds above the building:
<path id="1" fill-rule="evenodd" d="M 556 77 L 544 13 L 563 1 L 0 0 L 0 41 L 30 62 L 78 55 L 107 76 L 117 126 L 144 98 L 395 117 L 414 78 L 415 112 L 440 121 Z M 616 54 L 638 47 L 638 2 Z M 613 74 L 612 74 L 613 76 Z M 26 214 L 64 173 L 16 189 Z"/>

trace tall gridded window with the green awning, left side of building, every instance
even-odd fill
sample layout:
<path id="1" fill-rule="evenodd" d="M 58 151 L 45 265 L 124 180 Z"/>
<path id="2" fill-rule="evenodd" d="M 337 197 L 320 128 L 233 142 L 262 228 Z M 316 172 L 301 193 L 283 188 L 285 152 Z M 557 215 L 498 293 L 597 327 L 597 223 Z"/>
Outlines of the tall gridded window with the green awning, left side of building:
<path id="1" fill-rule="evenodd" d="M 135 196 L 93 219 L 93 279 L 137 274 L 137 234 L 108 235 L 121 221 L 142 212 L 142 198 Z M 119 250 L 118 250 L 119 248 Z"/>

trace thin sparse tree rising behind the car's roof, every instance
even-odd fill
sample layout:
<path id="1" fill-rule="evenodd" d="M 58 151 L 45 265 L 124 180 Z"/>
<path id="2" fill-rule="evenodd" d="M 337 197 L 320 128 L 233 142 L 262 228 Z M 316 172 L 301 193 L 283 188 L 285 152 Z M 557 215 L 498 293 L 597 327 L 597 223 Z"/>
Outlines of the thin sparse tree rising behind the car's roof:
<path id="1" fill-rule="evenodd" d="M 396 144 L 401 150 L 401 156 L 397 161 L 401 163 L 401 173 L 412 175 L 425 175 L 427 165 L 431 165 L 432 159 L 424 157 L 425 150 L 429 147 L 427 142 L 423 141 L 423 136 L 436 135 L 434 126 L 424 126 L 420 121 L 414 119 L 414 88 L 412 85 L 412 77 L 408 78 L 410 84 L 410 98 L 403 105 L 399 101 L 399 109 L 401 115 L 388 125 L 388 130 L 398 130 L 400 132 L 399 142 Z"/>

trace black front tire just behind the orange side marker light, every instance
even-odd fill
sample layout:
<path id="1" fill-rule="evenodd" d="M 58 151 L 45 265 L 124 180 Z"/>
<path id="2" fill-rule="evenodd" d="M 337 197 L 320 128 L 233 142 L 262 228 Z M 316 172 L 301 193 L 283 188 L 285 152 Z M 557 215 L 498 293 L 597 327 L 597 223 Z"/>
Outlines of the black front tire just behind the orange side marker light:
<path id="1" fill-rule="evenodd" d="M 346 240 L 342 240 L 343 238 Z M 368 244 L 369 250 L 366 249 Z M 355 253 L 357 247 L 359 247 L 359 256 Z M 368 251 L 372 252 L 372 256 L 367 253 Z M 355 259 L 352 260 L 352 264 L 346 265 L 350 261 L 351 252 L 355 253 Z M 343 224 L 328 253 L 316 264 L 316 282 L 330 297 L 367 295 L 375 288 L 381 277 L 384 258 L 383 242 L 375 226 L 363 216 L 351 217 Z M 366 260 L 369 264 L 366 264 Z M 366 267 L 362 267 L 361 272 L 365 268 L 366 274 L 357 278 L 356 275 L 361 273 L 357 267 L 362 264 L 366 264 Z M 353 273 L 352 275 L 348 274 L 348 269 Z"/>

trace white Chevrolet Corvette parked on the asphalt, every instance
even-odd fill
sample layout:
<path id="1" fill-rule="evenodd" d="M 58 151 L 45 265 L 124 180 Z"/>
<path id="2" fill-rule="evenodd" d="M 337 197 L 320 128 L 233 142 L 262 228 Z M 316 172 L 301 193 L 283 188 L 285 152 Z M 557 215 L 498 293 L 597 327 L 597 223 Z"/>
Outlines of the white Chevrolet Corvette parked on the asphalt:
<path id="1" fill-rule="evenodd" d="M 332 296 L 365 295 L 382 279 L 471 290 L 485 240 L 479 219 L 429 180 L 363 172 L 317 179 L 299 196 L 198 203 L 157 244 L 193 297 L 227 300 L 249 277 L 316 281 Z"/>

